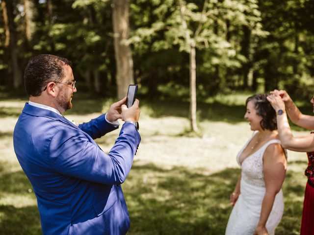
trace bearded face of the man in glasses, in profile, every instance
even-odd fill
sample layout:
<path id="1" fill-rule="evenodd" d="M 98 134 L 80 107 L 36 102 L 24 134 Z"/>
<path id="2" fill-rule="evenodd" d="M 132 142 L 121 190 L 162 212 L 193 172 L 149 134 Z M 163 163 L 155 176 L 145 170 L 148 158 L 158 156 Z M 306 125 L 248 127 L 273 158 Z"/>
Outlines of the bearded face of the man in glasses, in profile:
<path id="1" fill-rule="evenodd" d="M 65 73 L 65 77 L 62 79 L 61 82 L 74 82 L 73 72 L 70 66 L 65 65 L 63 66 L 63 70 Z M 77 88 L 73 90 L 72 84 L 66 83 L 58 83 L 58 87 L 60 92 L 56 97 L 56 102 L 64 111 L 72 108 L 72 95 L 74 92 L 77 92 Z"/>

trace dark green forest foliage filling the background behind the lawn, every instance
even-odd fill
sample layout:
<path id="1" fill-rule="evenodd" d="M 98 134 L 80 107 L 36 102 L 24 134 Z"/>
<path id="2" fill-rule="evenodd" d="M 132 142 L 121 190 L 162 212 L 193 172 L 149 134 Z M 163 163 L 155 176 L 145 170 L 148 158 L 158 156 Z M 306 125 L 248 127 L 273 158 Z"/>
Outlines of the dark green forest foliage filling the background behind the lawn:
<path id="1" fill-rule="evenodd" d="M 11 2 L 22 71 L 34 55 L 58 54 L 73 61 L 79 84 L 86 74 L 100 72 L 102 89 L 115 91 L 111 1 L 52 1 L 51 23 L 47 1 L 31 1 L 35 26 L 30 41 L 25 35 L 24 2 Z M 191 40 L 200 25 L 195 38 L 198 98 L 274 88 L 300 98 L 313 93 L 314 1 L 183 0 L 183 4 Z M 0 9 L 0 86 L 10 89 L 11 52 L 4 46 L 2 13 Z M 190 42 L 185 40 L 179 1 L 131 0 L 130 25 L 135 81 L 152 98 L 167 96 L 158 88 L 169 84 L 178 84 L 184 93 L 189 87 Z M 93 84 L 82 88 L 94 90 Z"/>

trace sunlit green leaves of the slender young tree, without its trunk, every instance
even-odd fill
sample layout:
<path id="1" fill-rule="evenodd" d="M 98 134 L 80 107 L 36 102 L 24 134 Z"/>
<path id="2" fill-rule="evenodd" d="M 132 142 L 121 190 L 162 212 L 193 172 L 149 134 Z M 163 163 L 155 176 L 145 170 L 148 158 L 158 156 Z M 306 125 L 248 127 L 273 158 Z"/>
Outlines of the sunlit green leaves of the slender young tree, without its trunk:
<path id="1" fill-rule="evenodd" d="M 154 11 L 146 12 L 144 10 L 143 13 L 143 8 L 140 8 L 139 4 L 144 2 L 147 7 L 144 8 L 145 10 L 154 8 Z M 202 14 L 203 1 L 185 3 L 184 14 L 191 40 L 194 40 L 194 33 L 199 30 L 199 34 L 195 38 L 196 47 L 198 48 L 197 77 L 199 84 L 206 87 L 206 91 L 208 91 L 202 94 L 212 95 L 220 89 L 225 90 L 228 83 L 222 76 L 226 76 L 226 73 L 230 70 L 241 68 L 248 60 L 246 55 L 240 53 L 239 49 L 241 48 L 238 47 L 236 41 L 234 42 L 226 37 L 229 32 L 236 30 L 233 35 L 241 33 L 238 27 L 246 25 L 252 30 L 252 35 L 256 39 L 267 35 L 267 32 L 262 30 L 261 13 L 257 3 L 256 0 L 209 0 L 204 9 L 204 14 Z M 167 0 L 150 3 L 148 1 L 135 1 L 134 4 L 131 4 L 131 10 L 136 12 L 142 10 L 145 19 L 145 21 L 134 22 L 136 29 L 129 40 L 134 47 L 135 56 L 139 56 L 142 61 L 155 56 L 155 54 L 152 54 L 155 51 L 169 51 L 169 49 L 174 48 L 178 49 L 182 56 L 184 56 L 184 52 L 189 51 L 189 42 L 184 37 L 185 32 L 182 27 L 178 1 Z M 232 24 L 227 25 L 228 22 L 232 22 Z M 237 37 L 235 37 L 235 40 L 237 40 Z M 256 44 L 254 47 L 256 47 Z M 187 64 L 184 67 L 187 68 Z M 143 71 L 140 65 L 139 68 L 139 71 Z M 217 72 L 218 70 L 219 72 Z M 176 83 L 184 84 L 183 74 L 175 80 Z M 147 82 L 150 83 L 155 79 L 152 77 L 146 78 L 146 74 L 141 75 L 141 81 L 143 82 L 147 79 Z M 186 73 L 184 76 L 186 76 Z M 209 77 L 212 78 L 209 79 Z M 162 80 L 159 79 L 160 82 Z M 151 91 L 151 93 L 156 92 Z"/>

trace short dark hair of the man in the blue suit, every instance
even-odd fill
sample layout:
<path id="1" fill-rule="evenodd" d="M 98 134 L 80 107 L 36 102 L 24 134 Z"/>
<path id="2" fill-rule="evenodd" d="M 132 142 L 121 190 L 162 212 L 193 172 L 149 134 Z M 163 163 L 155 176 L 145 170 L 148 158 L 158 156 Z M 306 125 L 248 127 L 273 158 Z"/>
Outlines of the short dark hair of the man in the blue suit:
<path id="1" fill-rule="evenodd" d="M 49 82 L 60 82 L 65 74 L 63 66 L 72 66 L 68 59 L 49 54 L 31 58 L 24 71 L 24 85 L 29 96 L 39 96 Z"/>

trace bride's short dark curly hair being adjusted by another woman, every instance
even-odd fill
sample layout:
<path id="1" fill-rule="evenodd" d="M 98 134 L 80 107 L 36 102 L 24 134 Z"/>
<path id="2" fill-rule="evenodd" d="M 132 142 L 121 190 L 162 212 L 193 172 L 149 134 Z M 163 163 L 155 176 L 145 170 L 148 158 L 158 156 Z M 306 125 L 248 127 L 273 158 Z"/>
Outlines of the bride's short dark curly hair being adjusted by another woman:
<path id="1" fill-rule="evenodd" d="M 267 94 L 255 94 L 246 99 L 246 105 L 249 101 L 254 103 L 256 114 L 262 117 L 260 122 L 263 130 L 276 130 L 277 129 L 277 118 L 276 112 L 266 99 Z"/>

